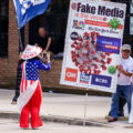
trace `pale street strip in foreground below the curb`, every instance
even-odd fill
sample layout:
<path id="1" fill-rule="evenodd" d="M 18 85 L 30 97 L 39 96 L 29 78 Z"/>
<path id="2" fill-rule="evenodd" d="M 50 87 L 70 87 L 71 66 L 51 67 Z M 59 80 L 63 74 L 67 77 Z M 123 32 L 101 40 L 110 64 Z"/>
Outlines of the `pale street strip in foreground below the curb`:
<path id="1" fill-rule="evenodd" d="M 133 129 L 127 127 L 100 127 L 68 125 L 60 123 L 44 122 L 38 130 L 22 130 L 19 127 L 19 121 L 0 119 L 0 133 L 133 133 Z"/>

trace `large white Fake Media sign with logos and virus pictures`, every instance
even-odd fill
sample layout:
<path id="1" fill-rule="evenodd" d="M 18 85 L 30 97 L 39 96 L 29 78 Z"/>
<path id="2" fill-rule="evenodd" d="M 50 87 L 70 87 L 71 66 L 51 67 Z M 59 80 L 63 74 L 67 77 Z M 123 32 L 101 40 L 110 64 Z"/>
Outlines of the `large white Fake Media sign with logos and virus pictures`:
<path id="1" fill-rule="evenodd" d="M 71 0 L 61 84 L 114 92 L 125 4 Z"/>

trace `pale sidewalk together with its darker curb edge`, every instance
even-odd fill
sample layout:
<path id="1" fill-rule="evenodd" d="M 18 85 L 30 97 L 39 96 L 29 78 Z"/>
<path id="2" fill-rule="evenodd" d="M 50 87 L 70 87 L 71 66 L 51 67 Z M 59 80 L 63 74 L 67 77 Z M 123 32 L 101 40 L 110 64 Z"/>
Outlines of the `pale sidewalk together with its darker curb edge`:
<path id="1" fill-rule="evenodd" d="M 14 90 L 0 90 L 0 117 L 19 119 L 17 105 L 11 104 Z M 43 93 L 41 117 L 43 121 L 82 124 L 84 117 L 85 95 Z M 88 96 L 86 125 L 132 126 L 127 121 L 108 123 L 111 98 Z"/>

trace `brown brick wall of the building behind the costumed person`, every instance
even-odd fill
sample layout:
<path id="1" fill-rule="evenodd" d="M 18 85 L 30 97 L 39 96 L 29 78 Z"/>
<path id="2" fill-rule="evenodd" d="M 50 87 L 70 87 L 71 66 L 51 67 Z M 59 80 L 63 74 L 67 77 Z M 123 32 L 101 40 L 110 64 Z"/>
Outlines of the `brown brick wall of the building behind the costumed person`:
<path id="1" fill-rule="evenodd" d="M 29 40 L 29 25 L 24 29 L 25 43 Z M 0 88 L 16 88 L 16 76 L 17 76 L 17 65 L 19 57 L 19 37 L 17 29 L 16 11 L 12 0 L 9 0 L 9 47 L 8 47 L 8 58 L 0 58 Z M 42 88 L 44 90 L 64 89 L 64 90 L 75 90 L 73 86 L 60 85 L 60 74 L 61 74 L 62 60 L 55 60 L 52 63 L 51 71 L 40 72 L 40 79 Z M 78 90 L 78 89 L 76 89 Z M 81 89 L 80 89 L 81 90 Z"/>

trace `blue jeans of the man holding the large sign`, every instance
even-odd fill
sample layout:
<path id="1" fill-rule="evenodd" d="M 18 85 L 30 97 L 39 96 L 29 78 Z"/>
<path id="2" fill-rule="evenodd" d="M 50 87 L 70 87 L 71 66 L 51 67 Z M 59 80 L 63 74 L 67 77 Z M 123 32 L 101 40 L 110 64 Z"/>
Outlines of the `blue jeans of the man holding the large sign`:
<path id="1" fill-rule="evenodd" d="M 129 113 L 131 110 L 132 86 L 131 85 L 117 85 L 116 92 L 112 96 L 112 104 L 111 104 L 111 116 L 115 117 L 115 119 L 117 117 L 121 92 L 123 92 L 123 94 L 126 99 Z"/>

